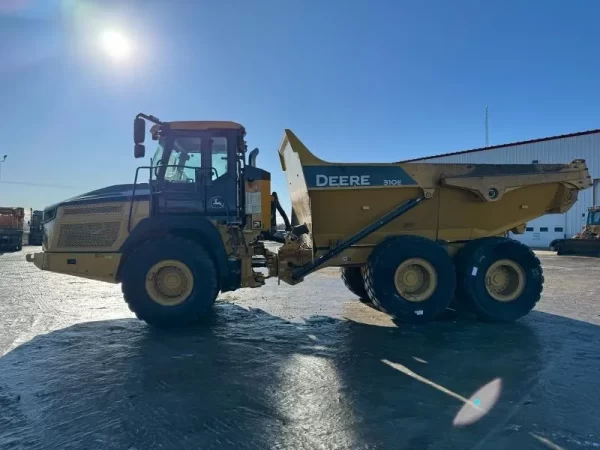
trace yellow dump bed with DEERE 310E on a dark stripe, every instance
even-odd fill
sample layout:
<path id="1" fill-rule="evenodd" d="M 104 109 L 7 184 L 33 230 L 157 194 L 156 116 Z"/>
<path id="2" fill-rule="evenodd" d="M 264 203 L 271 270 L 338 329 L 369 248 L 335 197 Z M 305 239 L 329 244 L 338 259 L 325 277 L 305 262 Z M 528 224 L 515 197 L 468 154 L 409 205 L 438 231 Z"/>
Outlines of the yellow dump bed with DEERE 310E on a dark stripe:
<path id="1" fill-rule="evenodd" d="M 461 241 L 500 235 L 564 213 L 592 185 L 585 161 L 570 164 L 329 163 L 286 130 L 279 155 L 294 211 L 315 250 L 330 248 L 410 199 L 416 208 L 367 236 Z"/>

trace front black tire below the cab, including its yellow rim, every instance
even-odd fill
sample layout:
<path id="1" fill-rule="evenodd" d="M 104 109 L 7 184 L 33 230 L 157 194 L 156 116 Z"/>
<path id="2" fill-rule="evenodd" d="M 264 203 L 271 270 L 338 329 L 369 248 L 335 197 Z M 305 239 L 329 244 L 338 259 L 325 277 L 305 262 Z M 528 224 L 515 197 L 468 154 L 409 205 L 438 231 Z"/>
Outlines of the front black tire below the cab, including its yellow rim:
<path id="1" fill-rule="evenodd" d="M 128 255 L 122 290 L 129 309 L 158 327 L 185 326 L 207 315 L 219 292 L 209 253 L 193 241 L 150 241 Z"/>

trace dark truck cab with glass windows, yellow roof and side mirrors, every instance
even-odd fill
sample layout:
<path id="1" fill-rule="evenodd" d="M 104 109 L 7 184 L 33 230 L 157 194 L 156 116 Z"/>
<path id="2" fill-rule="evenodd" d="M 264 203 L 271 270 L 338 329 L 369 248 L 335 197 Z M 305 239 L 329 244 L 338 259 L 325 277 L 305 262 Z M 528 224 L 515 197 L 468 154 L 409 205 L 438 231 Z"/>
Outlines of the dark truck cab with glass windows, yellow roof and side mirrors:
<path id="1" fill-rule="evenodd" d="M 149 170 L 152 215 L 199 215 L 257 232 L 270 230 L 270 174 L 254 166 L 257 150 L 245 164 L 241 124 L 152 119 L 138 117 L 134 124 L 134 155 L 140 158 L 145 155 L 146 120 L 155 122 L 151 165 L 138 169 Z"/>

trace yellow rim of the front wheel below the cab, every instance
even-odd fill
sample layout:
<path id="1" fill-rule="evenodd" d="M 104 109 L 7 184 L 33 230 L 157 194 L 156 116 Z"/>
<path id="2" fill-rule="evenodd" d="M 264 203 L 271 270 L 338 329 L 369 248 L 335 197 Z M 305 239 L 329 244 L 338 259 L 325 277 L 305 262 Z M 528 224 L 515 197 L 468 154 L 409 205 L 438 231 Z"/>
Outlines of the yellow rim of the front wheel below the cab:
<path id="1" fill-rule="evenodd" d="M 193 289 L 194 275 L 181 261 L 160 261 L 146 274 L 146 292 L 159 305 L 180 305 L 187 300 Z"/>

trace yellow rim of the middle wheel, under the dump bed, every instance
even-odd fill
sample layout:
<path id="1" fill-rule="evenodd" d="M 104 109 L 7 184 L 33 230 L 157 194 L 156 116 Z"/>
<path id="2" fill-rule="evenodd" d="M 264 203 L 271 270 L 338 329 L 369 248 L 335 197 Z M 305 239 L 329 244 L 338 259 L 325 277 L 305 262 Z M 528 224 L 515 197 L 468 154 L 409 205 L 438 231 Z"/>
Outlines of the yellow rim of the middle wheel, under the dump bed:
<path id="1" fill-rule="evenodd" d="M 398 266 L 394 275 L 398 293 L 410 302 L 427 300 L 437 286 L 435 268 L 422 258 L 410 258 Z"/>

